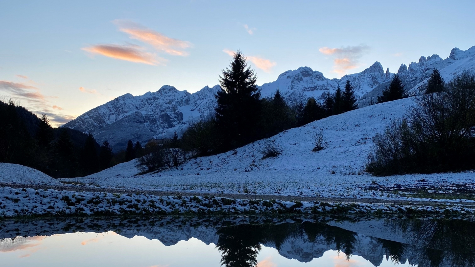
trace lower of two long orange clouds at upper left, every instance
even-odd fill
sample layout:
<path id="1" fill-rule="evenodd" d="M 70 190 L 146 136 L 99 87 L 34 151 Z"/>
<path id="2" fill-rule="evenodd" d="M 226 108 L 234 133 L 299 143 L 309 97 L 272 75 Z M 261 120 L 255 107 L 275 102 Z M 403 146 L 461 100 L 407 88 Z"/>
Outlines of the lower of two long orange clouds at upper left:
<path id="1" fill-rule="evenodd" d="M 148 65 L 157 65 L 165 61 L 164 59 L 160 58 L 160 62 L 159 58 L 156 57 L 155 54 L 144 52 L 144 48 L 137 45 L 102 44 L 81 49 L 91 53 L 91 55 L 98 54 L 106 57 Z"/>

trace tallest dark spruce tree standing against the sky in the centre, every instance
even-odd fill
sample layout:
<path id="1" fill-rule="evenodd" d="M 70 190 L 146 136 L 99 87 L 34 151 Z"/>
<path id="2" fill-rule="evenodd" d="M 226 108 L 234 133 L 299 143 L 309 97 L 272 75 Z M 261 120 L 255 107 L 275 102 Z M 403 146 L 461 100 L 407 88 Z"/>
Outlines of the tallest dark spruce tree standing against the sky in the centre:
<path id="1" fill-rule="evenodd" d="M 237 148 L 254 141 L 261 112 L 257 76 L 237 51 L 230 67 L 219 76 L 221 91 L 216 95 L 216 125 L 221 135 L 221 150 Z"/>

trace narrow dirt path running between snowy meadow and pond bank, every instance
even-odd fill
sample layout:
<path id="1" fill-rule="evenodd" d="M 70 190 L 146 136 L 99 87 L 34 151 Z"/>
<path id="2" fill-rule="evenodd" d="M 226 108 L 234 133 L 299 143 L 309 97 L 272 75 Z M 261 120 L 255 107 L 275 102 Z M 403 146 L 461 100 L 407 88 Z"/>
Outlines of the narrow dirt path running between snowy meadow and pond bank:
<path id="1" fill-rule="evenodd" d="M 344 199 L 344 198 L 322 198 L 322 197 L 301 197 L 301 196 L 281 196 L 281 195 L 257 195 L 257 194 L 205 194 L 200 192 L 187 192 L 187 191 L 160 191 L 160 190 L 136 190 L 136 189 L 120 189 L 120 188 L 99 188 L 90 186 L 78 186 L 78 185 L 31 185 L 31 184 L 18 184 L 18 183 L 1 183 L 0 187 L 11 188 L 34 188 L 34 189 L 53 189 L 53 190 L 66 190 L 66 191 L 79 191 L 79 192 L 108 192 L 108 193 L 121 193 L 121 194 L 150 194 L 155 196 L 206 196 L 214 195 L 217 197 L 225 197 L 231 199 L 256 199 L 256 200 L 299 200 L 299 201 L 325 201 L 325 202 L 343 202 L 343 203 L 382 203 L 382 204 L 399 204 L 399 205 L 429 205 L 436 206 L 445 203 L 437 201 L 407 201 L 407 200 L 379 200 L 379 199 Z M 453 201 L 447 201 L 453 202 Z M 455 203 L 454 203 L 455 204 Z M 463 206 L 474 206 L 475 203 L 456 203 Z"/>

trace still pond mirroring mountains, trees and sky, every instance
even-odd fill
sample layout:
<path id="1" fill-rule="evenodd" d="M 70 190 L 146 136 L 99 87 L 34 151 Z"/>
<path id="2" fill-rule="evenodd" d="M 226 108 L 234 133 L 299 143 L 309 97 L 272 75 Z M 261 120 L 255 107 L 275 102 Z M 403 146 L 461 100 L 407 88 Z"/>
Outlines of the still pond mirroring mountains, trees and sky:
<path id="1" fill-rule="evenodd" d="M 474 262 L 470 218 L 0 221 L 2 267 L 442 267 Z"/>

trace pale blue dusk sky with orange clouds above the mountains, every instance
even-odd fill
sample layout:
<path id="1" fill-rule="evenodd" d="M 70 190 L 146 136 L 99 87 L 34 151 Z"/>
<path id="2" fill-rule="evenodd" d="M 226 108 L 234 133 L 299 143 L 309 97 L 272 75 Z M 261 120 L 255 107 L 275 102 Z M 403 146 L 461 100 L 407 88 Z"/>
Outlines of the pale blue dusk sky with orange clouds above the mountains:
<path id="1" fill-rule="evenodd" d="M 0 0 L 0 100 L 54 126 L 119 95 L 218 84 L 240 49 L 257 84 L 328 78 L 475 46 L 475 1 Z"/>

